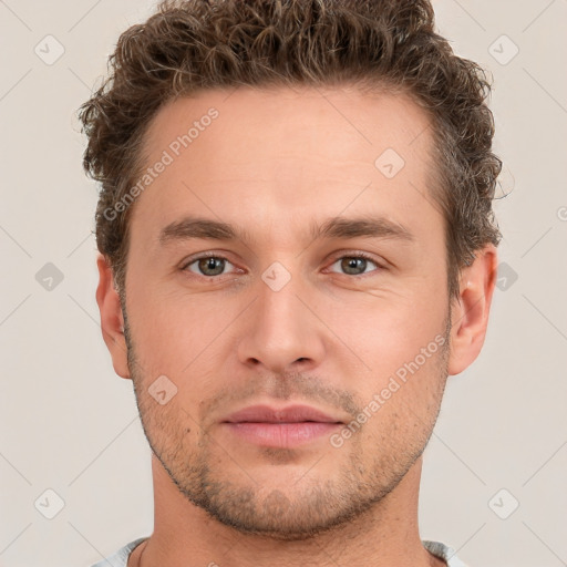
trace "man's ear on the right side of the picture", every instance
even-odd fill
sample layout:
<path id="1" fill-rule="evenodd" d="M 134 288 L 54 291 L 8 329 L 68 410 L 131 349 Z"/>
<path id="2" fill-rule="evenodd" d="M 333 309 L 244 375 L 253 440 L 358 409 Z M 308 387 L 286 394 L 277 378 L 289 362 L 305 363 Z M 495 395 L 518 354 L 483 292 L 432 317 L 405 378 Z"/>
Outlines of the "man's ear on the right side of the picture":
<path id="1" fill-rule="evenodd" d="M 491 244 L 477 251 L 471 266 L 461 270 L 460 293 L 452 306 L 450 375 L 472 364 L 484 344 L 497 260 L 496 248 Z"/>

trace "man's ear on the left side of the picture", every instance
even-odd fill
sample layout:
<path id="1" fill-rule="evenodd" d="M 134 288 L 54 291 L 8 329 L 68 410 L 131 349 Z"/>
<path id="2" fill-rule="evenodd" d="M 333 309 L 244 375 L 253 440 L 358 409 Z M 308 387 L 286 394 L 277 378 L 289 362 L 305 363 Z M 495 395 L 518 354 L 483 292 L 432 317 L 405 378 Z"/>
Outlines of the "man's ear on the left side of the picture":
<path id="1" fill-rule="evenodd" d="M 101 329 L 104 342 L 111 353 L 114 371 L 122 378 L 131 378 L 127 363 L 127 348 L 124 339 L 124 317 L 120 297 L 114 288 L 111 267 L 103 255 L 96 259 L 99 287 L 96 303 L 101 312 Z"/>

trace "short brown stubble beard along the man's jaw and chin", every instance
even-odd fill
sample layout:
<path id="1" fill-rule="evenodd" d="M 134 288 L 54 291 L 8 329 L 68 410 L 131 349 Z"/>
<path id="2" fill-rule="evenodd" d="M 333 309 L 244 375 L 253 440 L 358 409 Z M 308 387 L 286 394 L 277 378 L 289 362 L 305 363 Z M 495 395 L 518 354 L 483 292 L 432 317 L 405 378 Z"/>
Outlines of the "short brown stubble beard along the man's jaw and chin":
<path id="1" fill-rule="evenodd" d="M 336 460 L 338 465 L 332 476 L 318 477 L 317 464 L 312 464 L 317 458 L 313 457 L 312 462 L 306 463 L 306 474 L 299 482 L 290 482 L 286 486 L 261 486 L 255 482 L 254 471 L 247 473 L 245 466 L 239 467 L 229 458 L 226 450 L 183 408 L 172 402 L 159 405 L 148 395 L 147 386 L 152 379 L 143 375 L 137 363 L 126 312 L 123 312 L 136 404 L 153 453 L 187 501 L 243 534 L 287 542 L 303 540 L 340 529 L 370 514 L 421 456 L 439 416 L 447 377 L 450 328 L 445 331 L 445 343 L 437 358 L 439 391 L 434 394 L 433 404 L 436 408 L 430 409 L 427 422 L 421 420 L 416 437 L 392 447 L 392 439 L 386 434 L 377 434 L 372 442 L 365 439 L 362 427 L 350 440 L 350 445 L 344 445 L 348 456 L 338 457 L 343 449 L 329 445 L 321 462 Z M 202 434 L 195 443 L 189 430 L 195 432 L 197 429 Z M 381 451 L 389 445 L 390 450 Z M 285 461 L 285 451 L 288 450 L 274 450 L 272 455 Z M 230 467 L 238 467 L 237 474 L 230 475 Z M 236 477 L 240 482 L 236 482 Z"/>

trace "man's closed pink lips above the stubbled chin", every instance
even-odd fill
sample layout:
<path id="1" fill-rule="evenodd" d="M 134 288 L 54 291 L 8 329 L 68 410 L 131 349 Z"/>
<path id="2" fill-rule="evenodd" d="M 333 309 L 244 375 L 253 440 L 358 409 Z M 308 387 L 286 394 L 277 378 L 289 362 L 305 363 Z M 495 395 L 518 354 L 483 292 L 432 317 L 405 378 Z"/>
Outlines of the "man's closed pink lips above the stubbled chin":
<path id="1" fill-rule="evenodd" d="M 221 425 L 238 439 L 266 447 L 291 449 L 332 434 L 344 423 L 308 405 L 275 409 L 254 405 L 230 414 Z"/>

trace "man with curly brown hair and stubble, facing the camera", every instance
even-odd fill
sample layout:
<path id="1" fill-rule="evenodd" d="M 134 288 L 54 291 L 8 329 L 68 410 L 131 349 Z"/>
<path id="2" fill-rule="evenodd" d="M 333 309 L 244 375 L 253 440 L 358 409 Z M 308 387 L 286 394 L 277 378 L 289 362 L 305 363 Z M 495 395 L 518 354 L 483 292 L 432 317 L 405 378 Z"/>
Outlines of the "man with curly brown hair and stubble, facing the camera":
<path id="1" fill-rule="evenodd" d="M 495 285 L 488 85 L 425 0 L 164 2 L 81 109 L 155 526 L 99 565 L 463 565 L 422 453 Z"/>

